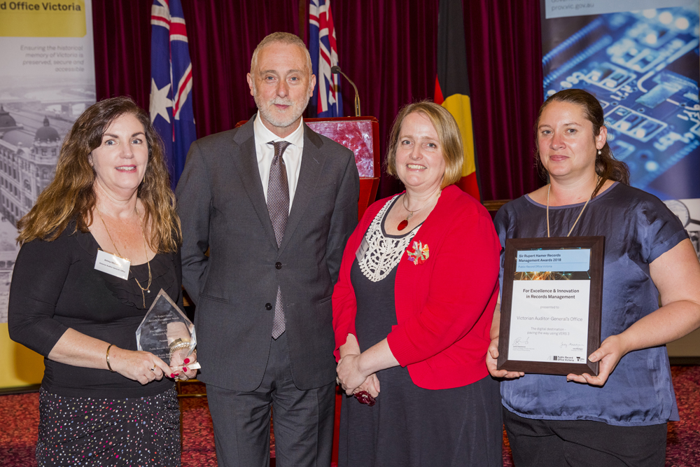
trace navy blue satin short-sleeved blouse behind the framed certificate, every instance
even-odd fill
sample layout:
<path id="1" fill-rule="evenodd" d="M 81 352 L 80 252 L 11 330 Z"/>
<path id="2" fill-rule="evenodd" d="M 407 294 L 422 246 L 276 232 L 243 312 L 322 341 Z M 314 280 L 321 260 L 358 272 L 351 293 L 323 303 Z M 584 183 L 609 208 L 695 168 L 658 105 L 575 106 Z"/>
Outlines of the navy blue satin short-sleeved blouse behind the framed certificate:
<path id="1" fill-rule="evenodd" d="M 583 204 L 549 207 L 552 237 L 566 236 Z M 507 238 L 547 237 L 545 206 L 527 195 L 505 204 L 495 224 L 502 246 Z M 601 342 L 659 308 L 649 265 L 688 237 L 657 197 L 622 183 L 589 202 L 571 235 L 605 236 Z M 503 252 L 500 280 L 503 286 Z M 666 346 L 629 352 L 603 387 L 566 382 L 566 376 L 526 374 L 500 388 L 507 410 L 531 419 L 620 426 L 678 420 Z"/>

